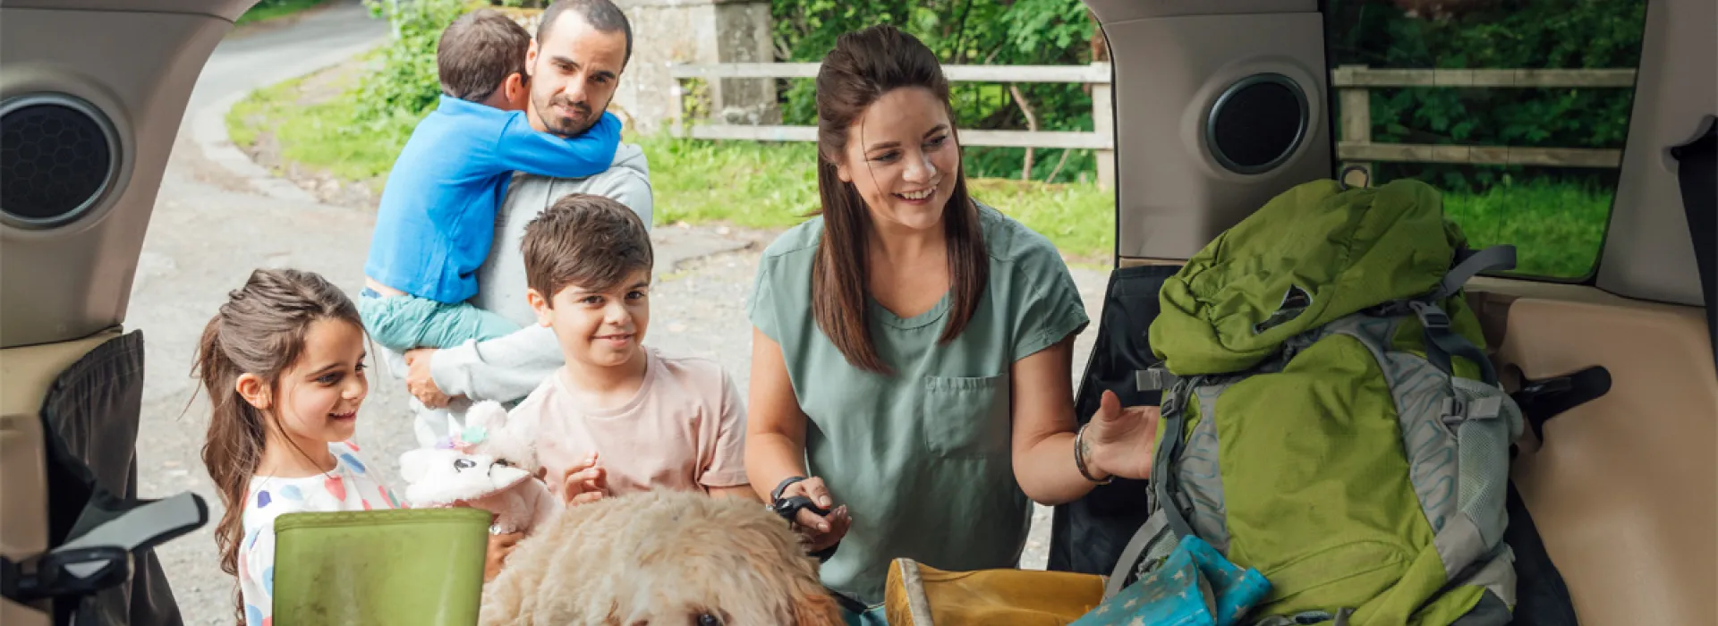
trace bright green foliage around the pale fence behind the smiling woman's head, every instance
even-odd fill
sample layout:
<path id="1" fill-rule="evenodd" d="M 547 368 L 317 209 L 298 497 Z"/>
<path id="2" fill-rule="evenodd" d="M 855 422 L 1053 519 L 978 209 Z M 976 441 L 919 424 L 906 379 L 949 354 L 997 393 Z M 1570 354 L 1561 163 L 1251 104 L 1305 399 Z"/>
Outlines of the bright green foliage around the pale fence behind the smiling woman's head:
<path id="1" fill-rule="evenodd" d="M 847 31 L 871 24 L 893 24 L 924 41 L 943 63 L 988 65 L 1081 65 L 1091 62 L 1096 22 L 1079 0 L 775 0 L 775 43 L 778 60 L 818 62 Z M 809 125 L 816 120 L 814 84 L 809 79 L 782 81 L 783 123 Z M 1091 130 L 1091 94 L 1079 84 L 1019 84 L 1038 117 L 1039 130 Z M 1005 84 L 955 82 L 955 123 L 962 129 L 1026 130 L 1027 118 Z M 967 147 L 966 170 L 974 177 L 1020 175 L 1026 149 Z M 1057 170 L 1057 165 L 1062 165 Z M 1091 151 L 1034 151 L 1033 180 L 1075 180 L 1091 177 Z"/>

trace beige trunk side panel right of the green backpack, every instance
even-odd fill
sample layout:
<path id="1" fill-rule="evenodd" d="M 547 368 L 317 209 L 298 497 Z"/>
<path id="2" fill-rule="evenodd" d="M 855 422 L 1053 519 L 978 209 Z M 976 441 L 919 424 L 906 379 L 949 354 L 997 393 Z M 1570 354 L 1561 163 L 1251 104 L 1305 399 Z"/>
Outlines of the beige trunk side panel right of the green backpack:
<path id="1" fill-rule="evenodd" d="M 1718 623 L 1718 374 L 1703 310 L 1586 286 L 1486 286 L 1471 300 L 1488 340 L 1502 334 L 1503 369 L 1611 376 L 1608 394 L 1548 422 L 1514 465 L 1581 624 Z"/>

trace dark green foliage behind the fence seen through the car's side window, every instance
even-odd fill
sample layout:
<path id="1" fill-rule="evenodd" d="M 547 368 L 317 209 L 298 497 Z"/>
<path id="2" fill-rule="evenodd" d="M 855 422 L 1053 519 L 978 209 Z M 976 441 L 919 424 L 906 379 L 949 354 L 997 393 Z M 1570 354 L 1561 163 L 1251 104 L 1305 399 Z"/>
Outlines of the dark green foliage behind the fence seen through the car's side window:
<path id="1" fill-rule="evenodd" d="M 1393 69 L 1634 69 L 1642 0 L 1498 0 L 1453 19 L 1417 19 L 1383 2 L 1331 0 L 1331 65 Z M 1371 89 L 1373 141 L 1414 144 L 1622 147 L 1632 89 Z M 1520 168 L 1388 165 L 1447 190 L 1486 189 Z M 1593 172 L 1563 172 L 1593 184 Z"/>

